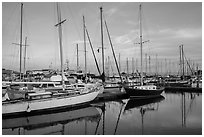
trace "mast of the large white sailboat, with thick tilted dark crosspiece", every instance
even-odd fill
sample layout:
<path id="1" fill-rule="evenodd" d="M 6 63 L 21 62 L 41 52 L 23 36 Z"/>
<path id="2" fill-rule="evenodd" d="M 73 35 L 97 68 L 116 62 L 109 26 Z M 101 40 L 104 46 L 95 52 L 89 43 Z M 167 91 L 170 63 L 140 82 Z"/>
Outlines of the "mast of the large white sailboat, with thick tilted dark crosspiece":
<path id="1" fill-rule="evenodd" d="M 57 3 L 57 16 L 58 16 L 58 24 L 56 24 L 55 26 L 57 27 L 58 26 L 58 32 L 59 32 L 59 44 L 60 44 L 60 60 L 61 60 L 61 75 L 62 75 L 62 87 L 63 87 L 63 90 L 65 88 L 65 83 L 64 83 L 64 67 L 63 67 L 63 47 L 62 47 L 62 23 L 64 23 L 66 21 L 63 20 L 61 21 L 61 12 L 60 12 L 60 7 Z"/>

